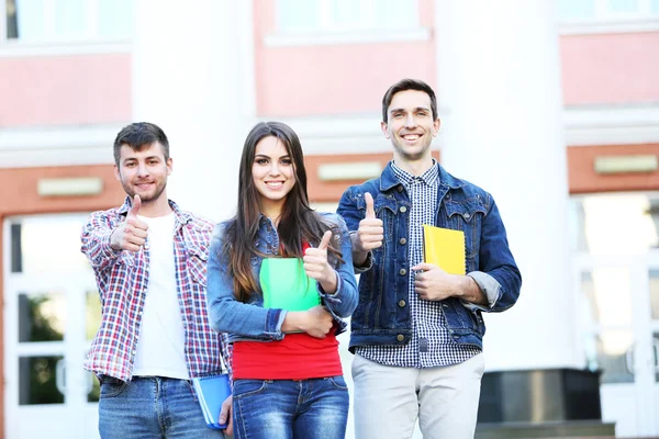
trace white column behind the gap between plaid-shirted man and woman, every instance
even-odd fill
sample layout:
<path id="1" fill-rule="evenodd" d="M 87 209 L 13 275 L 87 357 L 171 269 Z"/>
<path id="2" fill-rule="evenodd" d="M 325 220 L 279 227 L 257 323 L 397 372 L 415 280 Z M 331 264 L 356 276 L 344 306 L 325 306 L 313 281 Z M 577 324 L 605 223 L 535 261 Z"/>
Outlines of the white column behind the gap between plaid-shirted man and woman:
<path id="1" fill-rule="evenodd" d="M 169 137 L 169 198 L 227 218 L 255 112 L 252 1 L 136 0 L 135 8 L 133 120 Z"/>

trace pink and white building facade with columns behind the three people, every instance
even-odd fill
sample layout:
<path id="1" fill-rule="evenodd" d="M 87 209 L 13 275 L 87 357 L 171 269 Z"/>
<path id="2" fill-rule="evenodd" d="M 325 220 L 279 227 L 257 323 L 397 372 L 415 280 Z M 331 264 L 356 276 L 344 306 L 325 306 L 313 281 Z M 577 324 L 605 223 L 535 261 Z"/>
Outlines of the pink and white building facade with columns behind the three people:
<path id="1" fill-rule="evenodd" d="M 659 436 L 658 0 L 0 4 L 4 437 L 98 435 L 79 230 L 123 201 L 122 126 L 160 125 L 171 198 L 220 221 L 245 135 L 280 120 L 333 210 L 390 160 L 380 102 L 405 77 L 436 89 L 437 157 L 494 195 L 524 275 L 485 316 L 487 369 L 599 370 L 603 419 Z"/>

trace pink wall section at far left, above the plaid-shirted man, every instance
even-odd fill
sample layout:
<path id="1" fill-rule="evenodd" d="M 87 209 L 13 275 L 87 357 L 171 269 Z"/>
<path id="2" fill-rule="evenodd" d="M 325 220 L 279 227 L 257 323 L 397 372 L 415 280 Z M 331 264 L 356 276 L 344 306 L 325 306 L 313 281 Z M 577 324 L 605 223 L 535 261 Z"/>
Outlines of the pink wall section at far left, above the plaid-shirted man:
<path id="1" fill-rule="evenodd" d="M 130 54 L 0 58 L 0 127 L 130 119 Z"/>

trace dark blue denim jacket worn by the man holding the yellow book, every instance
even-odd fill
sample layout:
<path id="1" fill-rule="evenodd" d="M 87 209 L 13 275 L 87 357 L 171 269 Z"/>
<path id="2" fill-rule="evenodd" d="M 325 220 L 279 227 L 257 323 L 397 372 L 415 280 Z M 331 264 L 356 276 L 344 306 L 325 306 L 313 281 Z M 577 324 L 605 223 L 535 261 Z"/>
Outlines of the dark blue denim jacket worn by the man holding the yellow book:
<path id="1" fill-rule="evenodd" d="M 351 351 L 356 346 L 405 345 L 412 337 L 406 305 L 412 203 L 389 164 L 380 178 L 350 187 L 343 194 L 337 212 L 353 232 L 365 217 L 365 192 L 373 196 L 376 215 L 384 225 L 384 241 L 369 254 L 364 270 L 356 269 L 361 275 L 359 303 L 351 318 Z M 482 348 L 485 326 L 481 311 L 501 312 L 513 306 L 520 295 L 522 275 L 492 195 L 439 167 L 437 207 L 434 225 L 465 232 L 467 273 L 490 303 L 483 307 L 456 297 L 443 301 L 448 330 L 456 342 Z"/>

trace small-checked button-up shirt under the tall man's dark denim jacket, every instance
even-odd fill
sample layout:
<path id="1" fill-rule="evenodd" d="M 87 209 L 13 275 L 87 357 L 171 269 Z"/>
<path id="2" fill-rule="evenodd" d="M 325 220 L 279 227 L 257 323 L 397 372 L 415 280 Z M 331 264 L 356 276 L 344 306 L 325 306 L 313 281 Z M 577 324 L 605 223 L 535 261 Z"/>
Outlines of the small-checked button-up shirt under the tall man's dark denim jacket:
<path id="1" fill-rule="evenodd" d="M 405 172 L 394 162 L 393 173 L 405 187 L 412 209 L 410 211 L 410 267 L 423 262 L 423 224 L 435 224 L 439 166 L 420 177 Z M 387 233 L 387 230 L 386 230 Z M 412 315 L 412 338 L 405 346 L 360 346 L 357 352 L 380 364 L 404 368 L 434 368 L 457 364 L 480 353 L 474 346 L 458 345 L 448 333 L 442 302 L 424 301 L 414 289 L 415 272 L 410 270 L 407 303 Z"/>

